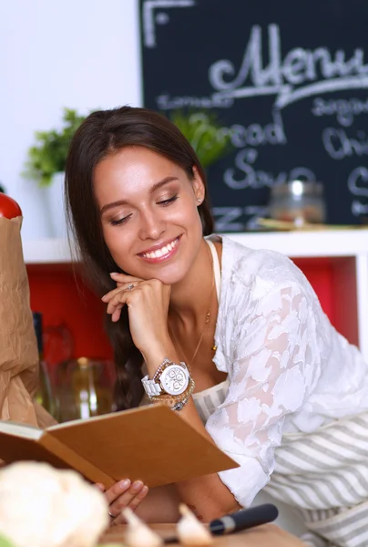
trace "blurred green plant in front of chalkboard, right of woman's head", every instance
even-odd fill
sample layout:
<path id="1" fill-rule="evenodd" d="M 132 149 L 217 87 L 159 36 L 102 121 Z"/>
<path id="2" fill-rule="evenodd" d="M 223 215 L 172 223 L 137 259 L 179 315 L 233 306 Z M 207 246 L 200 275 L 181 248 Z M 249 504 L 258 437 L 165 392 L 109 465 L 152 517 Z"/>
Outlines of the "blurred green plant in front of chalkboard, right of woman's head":
<path id="1" fill-rule="evenodd" d="M 189 140 L 204 169 L 226 156 L 232 149 L 229 129 L 220 125 L 213 112 L 186 114 L 175 110 L 170 119 Z"/>

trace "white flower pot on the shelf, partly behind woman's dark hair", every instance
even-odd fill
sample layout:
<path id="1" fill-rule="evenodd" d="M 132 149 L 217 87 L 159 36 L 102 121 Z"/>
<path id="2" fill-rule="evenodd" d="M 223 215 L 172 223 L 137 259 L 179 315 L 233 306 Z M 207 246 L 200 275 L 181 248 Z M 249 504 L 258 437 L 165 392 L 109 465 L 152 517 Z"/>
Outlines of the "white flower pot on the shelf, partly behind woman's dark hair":
<path id="1" fill-rule="evenodd" d="M 50 225 L 50 237 L 66 239 L 66 212 L 64 205 L 65 173 L 55 173 L 51 183 L 45 187 L 46 207 Z"/>

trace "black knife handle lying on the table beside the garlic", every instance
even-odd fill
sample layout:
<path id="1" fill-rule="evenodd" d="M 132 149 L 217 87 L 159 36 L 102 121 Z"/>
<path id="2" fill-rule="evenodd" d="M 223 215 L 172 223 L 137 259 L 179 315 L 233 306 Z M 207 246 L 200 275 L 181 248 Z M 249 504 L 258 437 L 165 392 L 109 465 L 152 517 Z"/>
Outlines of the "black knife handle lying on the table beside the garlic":
<path id="1" fill-rule="evenodd" d="M 256 505 L 249 509 L 241 509 L 240 511 L 230 513 L 230 515 L 225 515 L 220 519 L 210 521 L 209 529 L 213 535 L 238 532 L 274 521 L 278 514 L 279 511 L 275 505 L 272 505 L 272 503 L 264 503 L 263 505 Z M 164 540 L 164 543 L 175 542 L 178 542 L 178 538 L 176 537 L 170 537 Z"/>

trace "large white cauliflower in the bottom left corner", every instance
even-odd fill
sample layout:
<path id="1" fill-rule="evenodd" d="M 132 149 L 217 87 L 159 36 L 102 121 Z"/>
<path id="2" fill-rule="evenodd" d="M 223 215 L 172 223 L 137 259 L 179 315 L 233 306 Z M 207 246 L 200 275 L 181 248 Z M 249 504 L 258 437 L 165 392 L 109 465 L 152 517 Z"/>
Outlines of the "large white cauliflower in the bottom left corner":
<path id="1" fill-rule="evenodd" d="M 31 461 L 0 470 L 0 535 L 16 547 L 92 547 L 107 511 L 105 496 L 76 471 Z"/>

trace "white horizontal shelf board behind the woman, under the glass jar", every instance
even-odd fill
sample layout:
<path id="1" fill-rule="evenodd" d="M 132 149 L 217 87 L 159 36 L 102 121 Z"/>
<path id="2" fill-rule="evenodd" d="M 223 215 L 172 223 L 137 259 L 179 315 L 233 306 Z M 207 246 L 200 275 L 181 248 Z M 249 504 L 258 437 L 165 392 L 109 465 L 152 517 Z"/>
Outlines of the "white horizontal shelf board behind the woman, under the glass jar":
<path id="1" fill-rule="evenodd" d="M 234 241 L 253 249 L 271 249 L 291 257 L 358 256 L 368 254 L 368 229 L 325 232 L 228 233 Z M 24 241 L 28 264 L 70 263 L 66 240 Z"/>

